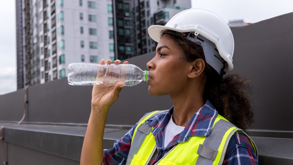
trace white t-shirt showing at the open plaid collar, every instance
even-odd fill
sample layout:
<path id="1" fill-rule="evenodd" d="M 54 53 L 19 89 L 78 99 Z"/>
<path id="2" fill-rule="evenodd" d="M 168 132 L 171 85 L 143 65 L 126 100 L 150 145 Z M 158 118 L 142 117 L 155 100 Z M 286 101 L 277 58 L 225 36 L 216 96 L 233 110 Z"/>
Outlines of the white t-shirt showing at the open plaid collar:
<path id="1" fill-rule="evenodd" d="M 164 129 L 164 147 L 167 147 L 167 145 L 171 142 L 174 136 L 181 133 L 185 127 L 178 126 L 173 122 L 173 114 L 171 115 L 171 119 L 167 123 L 165 129 Z"/>

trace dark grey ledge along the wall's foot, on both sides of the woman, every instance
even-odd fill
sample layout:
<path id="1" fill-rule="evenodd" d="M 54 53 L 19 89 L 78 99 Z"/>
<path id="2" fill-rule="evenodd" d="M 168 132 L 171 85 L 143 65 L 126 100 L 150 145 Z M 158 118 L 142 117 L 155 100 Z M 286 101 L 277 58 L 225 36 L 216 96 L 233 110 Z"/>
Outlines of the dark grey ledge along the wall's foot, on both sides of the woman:
<path id="1" fill-rule="evenodd" d="M 46 153 L 80 160 L 81 148 L 86 133 L 86 124 L 1 122 L 4 141 Z M 130 125 L 106 125 L 105 149 L 110 149 L 116 140 L 123 137 Z M 248 130 L 259 153 L 259 164 L 293 163 L 293 131 Z M 286 148 L 284 148 L 286 146 Z"/>

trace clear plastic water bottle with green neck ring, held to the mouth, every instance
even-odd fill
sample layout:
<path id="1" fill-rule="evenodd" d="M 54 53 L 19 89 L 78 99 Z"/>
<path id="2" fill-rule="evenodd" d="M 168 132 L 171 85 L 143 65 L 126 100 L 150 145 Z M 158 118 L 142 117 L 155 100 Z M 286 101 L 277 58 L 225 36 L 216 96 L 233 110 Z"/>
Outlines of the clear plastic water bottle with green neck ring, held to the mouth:
<path id="1" fill-rule="evenodd" d="M 67 79 L 69 85 L 115 85 L 124 81 L 126 86 L 134 86 L 147 81 L 149 71 L 142 71 L 132 64 L 71 63 Z"/>

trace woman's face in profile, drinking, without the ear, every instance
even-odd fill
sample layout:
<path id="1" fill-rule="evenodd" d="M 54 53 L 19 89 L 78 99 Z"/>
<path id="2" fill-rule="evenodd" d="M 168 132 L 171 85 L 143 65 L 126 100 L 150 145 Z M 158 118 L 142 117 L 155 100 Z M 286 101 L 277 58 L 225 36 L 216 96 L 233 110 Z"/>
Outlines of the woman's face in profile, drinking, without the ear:
<path id="1" fill-rule="evenodd" d="M 188 81 L 190 65 L 183 60 L 184 53 L 168 34 L 161 37 L 156 56 L 147 63 L 150 78 L 148 92 L 154 96 L 182 92 Z"/>

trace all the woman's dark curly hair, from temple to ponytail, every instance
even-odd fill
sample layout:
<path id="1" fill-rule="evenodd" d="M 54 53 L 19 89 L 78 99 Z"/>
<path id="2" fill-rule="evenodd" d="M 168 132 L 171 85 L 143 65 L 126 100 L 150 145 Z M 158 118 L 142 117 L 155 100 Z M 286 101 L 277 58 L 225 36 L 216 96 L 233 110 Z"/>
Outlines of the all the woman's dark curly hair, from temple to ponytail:
<path id="1" fill-rule="evenodd" d="M 254 122 L 252 105 L 254 103 L 251 81 L 238 74 L 224 75 L 217 73 L 205 60 L 205 55 L 200 43 L 195 43 L 185 37 L 186 33 L 166 30 L 162 36 L 168 34 L 168 38 L 175 41 L 184 52 L 180 58 L 192 62 L 198 58 L 205 61 L 203 76 L 206 77 L 205 99 L 222 115 L 238 128 L 246 129 Z"/>

